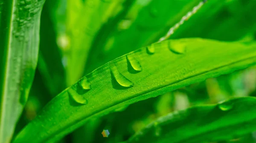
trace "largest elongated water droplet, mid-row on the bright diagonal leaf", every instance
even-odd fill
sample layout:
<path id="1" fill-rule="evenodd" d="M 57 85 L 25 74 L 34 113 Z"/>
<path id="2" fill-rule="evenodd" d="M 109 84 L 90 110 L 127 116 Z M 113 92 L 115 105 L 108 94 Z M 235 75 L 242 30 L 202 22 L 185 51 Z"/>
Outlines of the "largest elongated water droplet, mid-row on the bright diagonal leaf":
<path id="1" fill-rule="evenodd" d="M 119 83 L 120 86 L 124 86 L 124 87 L 133 87 L 134 86 L 134 83 L 131 82 L 130 80 L 128 80 L 125 76 L 123 76 L 118 71 L 116 66 L 114 66 L 113 64 L 110 66 L 110 70 L 111 70 L 111 73 L 112 73 L 113 77 L 115 78 L 116 82 Z"/>

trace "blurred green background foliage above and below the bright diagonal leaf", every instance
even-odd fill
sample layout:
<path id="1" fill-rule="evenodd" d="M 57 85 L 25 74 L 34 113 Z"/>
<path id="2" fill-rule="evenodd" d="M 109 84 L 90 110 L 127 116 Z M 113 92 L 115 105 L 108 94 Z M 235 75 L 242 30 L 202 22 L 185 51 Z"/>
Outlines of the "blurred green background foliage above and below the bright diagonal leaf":
<path id="1" fill-rule="evenodd" d="M 196 3 L 199 3 L 198 0 Z M 16 127 L 20 131 L 59 92 L 97 67 L 156 42 L 196 5 L 191 0 L 46 0 L 38 67 Z M 170 39 L 256 40 L 256 0 L 209 0 Z M 256 96 L 256 67 L 134 103 L 93 119 L 60 143 L 116 143 L 157 117 L 230 97 Z M 108 138 L 102 130 L 108 129 Z M 256 133 L 218 143 L 256 143 Z"/>

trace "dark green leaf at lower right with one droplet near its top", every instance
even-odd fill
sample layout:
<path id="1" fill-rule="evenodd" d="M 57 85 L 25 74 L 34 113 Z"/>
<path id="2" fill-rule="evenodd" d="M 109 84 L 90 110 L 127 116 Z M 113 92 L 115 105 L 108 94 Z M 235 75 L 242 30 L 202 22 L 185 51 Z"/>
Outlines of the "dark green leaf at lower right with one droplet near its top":
<path id="1" fill-rule="evenodd" d="M 240 97 L 219 104 L 193 106 L 160 117 L 127 143 L 202 143 L 231 140 L 256 131 L 255 97 Z"/>

